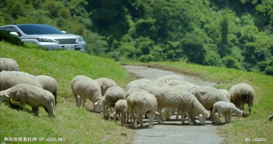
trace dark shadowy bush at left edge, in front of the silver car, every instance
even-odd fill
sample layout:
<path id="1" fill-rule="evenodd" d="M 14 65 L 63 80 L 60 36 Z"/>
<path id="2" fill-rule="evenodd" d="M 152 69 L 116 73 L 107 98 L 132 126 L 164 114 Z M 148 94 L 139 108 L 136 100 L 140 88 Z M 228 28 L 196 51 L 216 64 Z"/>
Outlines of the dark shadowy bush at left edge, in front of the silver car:
<path id="1" fill-rule="evenodd" d="M 7 31 L 0 30 L 0 41 L 10 42 L 17 46 L 24 46 L 24 42 L 22 42 L 18 37 L 10 35 Z"/>

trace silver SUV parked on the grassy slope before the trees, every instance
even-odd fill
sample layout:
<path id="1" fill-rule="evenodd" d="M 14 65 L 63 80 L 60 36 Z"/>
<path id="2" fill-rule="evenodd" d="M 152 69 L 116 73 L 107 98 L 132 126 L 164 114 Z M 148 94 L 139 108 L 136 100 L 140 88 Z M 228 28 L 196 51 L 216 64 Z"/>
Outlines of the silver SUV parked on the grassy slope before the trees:
<path id="1" fill-rule="evenodd" d="M 16 24 L 1 26 L 21 41 L 32 42 L 49 50 L 77 50 L 86 52 L 86 43 L 81 36 L 67 34 L 47 24 Z"/>

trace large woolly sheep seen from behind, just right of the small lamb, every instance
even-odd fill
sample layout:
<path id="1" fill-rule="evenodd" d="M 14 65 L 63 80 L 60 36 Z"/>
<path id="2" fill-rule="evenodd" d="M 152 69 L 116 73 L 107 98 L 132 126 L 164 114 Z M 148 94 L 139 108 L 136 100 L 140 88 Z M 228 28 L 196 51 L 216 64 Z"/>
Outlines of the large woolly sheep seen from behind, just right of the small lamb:
<path id="1" fill-rule="evenodd" d="M 153 123 L 153 119 L 155 118 L 157 101 L 153 94 L 148 92 L 134 92 L 128 96 L 126 99 L 128 105 L 128 112 L 130 113 L 131 127 L 136 129 L 136 119 L 140 116 L 141 127 L 143 127 L 143 114 L 147 113 L 149 115 L 149 124 Z M 132 122 L 132 118 L 134 119 L 134 124 Z M 160 124 L 161 122 L 156 116 L 157 122 Z"/>

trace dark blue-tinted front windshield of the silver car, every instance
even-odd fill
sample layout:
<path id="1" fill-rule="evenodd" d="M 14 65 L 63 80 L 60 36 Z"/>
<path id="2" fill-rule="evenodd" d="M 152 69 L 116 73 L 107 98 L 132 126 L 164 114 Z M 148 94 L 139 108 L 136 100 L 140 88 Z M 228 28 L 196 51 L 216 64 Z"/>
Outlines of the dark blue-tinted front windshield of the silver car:
<path id="1" fill-rule="evenodd" d="M 60 30 L 49 25 L 18 25 L 18 27 L 27 35 L 43 35 L 43 34 L 64 34 Z"/>

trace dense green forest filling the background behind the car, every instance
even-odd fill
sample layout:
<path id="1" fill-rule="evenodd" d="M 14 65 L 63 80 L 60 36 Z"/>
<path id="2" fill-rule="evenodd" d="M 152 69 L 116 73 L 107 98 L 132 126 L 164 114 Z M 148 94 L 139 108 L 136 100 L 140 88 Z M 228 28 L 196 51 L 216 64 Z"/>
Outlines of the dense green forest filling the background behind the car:
<path id="1" fill-rule="evenodd" d="M 0 25 L 49 24 L 117 61 L 185 61 L 273 75 L 272 0 L 1 0 Z"/>

